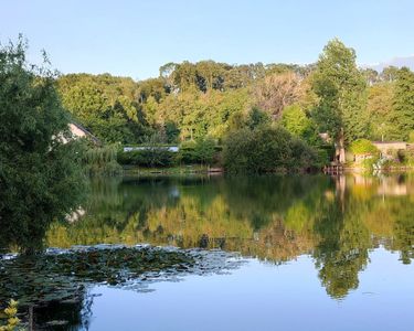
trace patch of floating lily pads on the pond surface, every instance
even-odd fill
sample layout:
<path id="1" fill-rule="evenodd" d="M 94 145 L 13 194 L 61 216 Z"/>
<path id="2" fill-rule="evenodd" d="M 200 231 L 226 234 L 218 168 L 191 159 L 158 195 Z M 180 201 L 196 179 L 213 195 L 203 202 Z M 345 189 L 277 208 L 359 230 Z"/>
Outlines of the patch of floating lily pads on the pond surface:
<path id="1" fill-rule="evenodd" d="M 0 302 L 19 298 L 22 307 L 79 302 L 88 285 L 145 289 L 156 280 L 236 268 L 237 255 L 151 246 L 95 246 L 35 256 L 0 258 Z"/>

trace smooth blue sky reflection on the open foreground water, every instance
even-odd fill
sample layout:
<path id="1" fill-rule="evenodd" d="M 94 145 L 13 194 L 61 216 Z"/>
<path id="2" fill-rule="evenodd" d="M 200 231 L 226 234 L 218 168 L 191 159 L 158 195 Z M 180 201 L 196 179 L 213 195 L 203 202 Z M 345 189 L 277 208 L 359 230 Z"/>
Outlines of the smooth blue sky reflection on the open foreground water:
<path id="1" fill-rule="evenodd" d="M 189 276 L 148 293 L 98 287 L 91 330 L 412 330 L 413 266 L 382 248 L 370 257 L 341 301 L 306 256 L 282 266 L 251 260 L 232 275 Z"/>

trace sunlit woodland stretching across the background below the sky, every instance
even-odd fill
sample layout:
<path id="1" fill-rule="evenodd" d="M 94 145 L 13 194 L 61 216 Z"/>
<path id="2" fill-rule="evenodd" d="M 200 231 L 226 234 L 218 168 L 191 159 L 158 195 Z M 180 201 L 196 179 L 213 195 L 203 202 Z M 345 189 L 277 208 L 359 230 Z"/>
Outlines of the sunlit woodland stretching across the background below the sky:
<path id="1" fill-rule="evenodd" d="M 214 61 L 168 63 L 156 78 L 109 74 L 57 78 L 75 121 L 107 142 L 162 143 L 210 137 L 270 121 L 310 145 L 318 134 L 414 140 L 414 73 L 359 68 L 354 50 L 332 40 L 310 65 Z M 341 134 L 342 132 L 342 134 Z"/>

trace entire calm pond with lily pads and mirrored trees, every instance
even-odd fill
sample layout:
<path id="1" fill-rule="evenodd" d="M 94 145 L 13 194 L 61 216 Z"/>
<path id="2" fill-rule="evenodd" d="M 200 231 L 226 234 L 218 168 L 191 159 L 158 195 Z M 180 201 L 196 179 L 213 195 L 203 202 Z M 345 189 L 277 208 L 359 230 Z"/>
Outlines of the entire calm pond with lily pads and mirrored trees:
<path id="1" fill-rule="evenodd" d="M 0 235 L 34 330 L 413 330 L 410 174 L 95 179 L 42 239 Z"/>

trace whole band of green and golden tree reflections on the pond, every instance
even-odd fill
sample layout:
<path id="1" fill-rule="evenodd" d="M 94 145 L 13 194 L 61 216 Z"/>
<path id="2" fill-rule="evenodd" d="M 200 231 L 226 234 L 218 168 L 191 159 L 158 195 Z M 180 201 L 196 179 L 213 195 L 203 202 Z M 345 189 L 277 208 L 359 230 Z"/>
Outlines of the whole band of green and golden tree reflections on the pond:
<path id="1" fill-rule="evenodd" d="M 151 243 L 241 252 L 274 264 L 310 254 L 343 298 L 370 249 L 413 258 L 414 180 L 364 178 L 126 178 L 93 182 L 86 214 L 53 224 L 49 246 Z"/>

